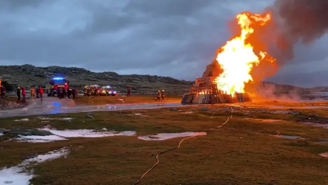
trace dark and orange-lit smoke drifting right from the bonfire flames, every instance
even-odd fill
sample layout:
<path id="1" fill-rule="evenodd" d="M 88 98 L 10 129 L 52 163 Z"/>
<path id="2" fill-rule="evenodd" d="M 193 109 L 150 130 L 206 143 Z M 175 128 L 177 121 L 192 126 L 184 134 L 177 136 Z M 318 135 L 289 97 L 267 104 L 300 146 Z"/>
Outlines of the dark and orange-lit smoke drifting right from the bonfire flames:
<path id="1" fill-rule="evenodd" d="M 271 13 L 271 21 L 265 26 L 255 27 L 248 42 L 254 50 L 267 51 L 277 61 L 274 65 L 261 61 L 255 66 L 252 76 L 257 87 L 248 84 L 246 89 L 256 91 L 254 94 L 264 99 L 298 99 L 297 90 L 268 84 L 263 86 L 260 81 L 275 75 L 280 67 L 294 58 L 296 44 L 310 45 L 328 31 L 328 0 L 276 0 L 263 12 Z"/>

